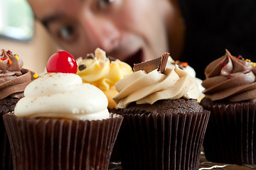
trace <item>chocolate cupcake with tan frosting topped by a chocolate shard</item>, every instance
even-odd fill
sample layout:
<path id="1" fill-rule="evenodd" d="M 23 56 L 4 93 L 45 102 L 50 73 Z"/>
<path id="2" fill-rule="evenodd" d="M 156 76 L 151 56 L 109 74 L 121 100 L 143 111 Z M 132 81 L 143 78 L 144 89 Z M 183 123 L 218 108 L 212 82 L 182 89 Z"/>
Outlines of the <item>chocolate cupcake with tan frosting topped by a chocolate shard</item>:
<path id="1" fill-rule="evenodd" d="M 196 81 L 166 69 L 169 54 L 134 65 L 115 84 L 122 169 L 197 169 L 209 111 L 196 99 Z"/>

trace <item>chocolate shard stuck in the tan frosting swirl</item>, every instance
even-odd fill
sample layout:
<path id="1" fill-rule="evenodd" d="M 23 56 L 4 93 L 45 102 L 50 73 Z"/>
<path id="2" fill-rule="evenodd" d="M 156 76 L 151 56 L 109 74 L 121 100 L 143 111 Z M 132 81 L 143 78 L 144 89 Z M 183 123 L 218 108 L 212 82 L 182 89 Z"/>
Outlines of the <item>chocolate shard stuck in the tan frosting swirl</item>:
<path id="1" fill-rule="evenodd" d="M 157 69 L 157 71 L 164 73 L 169 55 L 170 54 L 168 52 L 165 52 L 163 55 L 161 55 L 161 57 L 156 59 L 134 64 L 133 70 L 134 72 L 144 70 L 146 73 L 149 73 L 154 69 Z"/>

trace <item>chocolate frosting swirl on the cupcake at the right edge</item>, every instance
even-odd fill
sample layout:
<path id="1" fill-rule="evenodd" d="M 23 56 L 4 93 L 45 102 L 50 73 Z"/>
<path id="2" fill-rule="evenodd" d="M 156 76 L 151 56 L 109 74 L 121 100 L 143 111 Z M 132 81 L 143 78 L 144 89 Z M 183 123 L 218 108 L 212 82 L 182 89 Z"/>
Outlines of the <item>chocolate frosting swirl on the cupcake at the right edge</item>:
<path id="1" fill-rule="evenodd" d="M 205 69 L 203 93 L 211 101 L 247 101 L 256 98 L 256 67 L 250 60 L 240 60 L 226 50 Z"/>

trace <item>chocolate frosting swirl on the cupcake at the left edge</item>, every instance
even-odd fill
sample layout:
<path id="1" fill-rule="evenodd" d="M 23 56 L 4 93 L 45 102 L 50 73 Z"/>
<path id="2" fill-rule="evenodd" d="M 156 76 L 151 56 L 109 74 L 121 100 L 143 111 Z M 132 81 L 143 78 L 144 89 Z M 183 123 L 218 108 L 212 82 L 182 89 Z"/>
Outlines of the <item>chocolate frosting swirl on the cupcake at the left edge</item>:
<path id="1" fill-rule="evenodd" d="M 0 52 L 0 100 L 10 96 L 22 98 L 25 87 L 33 80 L 33 72 L 22 69 L 23 62 L 10 50 Z"/>

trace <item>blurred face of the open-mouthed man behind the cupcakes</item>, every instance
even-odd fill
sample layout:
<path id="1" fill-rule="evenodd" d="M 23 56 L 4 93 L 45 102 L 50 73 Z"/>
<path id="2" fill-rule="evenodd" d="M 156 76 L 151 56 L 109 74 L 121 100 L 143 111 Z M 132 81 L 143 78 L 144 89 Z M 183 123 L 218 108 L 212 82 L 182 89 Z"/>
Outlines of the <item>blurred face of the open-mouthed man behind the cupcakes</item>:
<path id="1" fill-rule="evenodd" d="M 28 0 L 58 45 L 74 57 L 102 48 L 129 64 L 168 49 L 159 0 Z"/>

